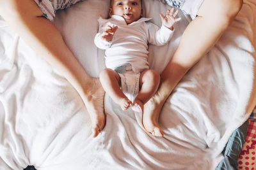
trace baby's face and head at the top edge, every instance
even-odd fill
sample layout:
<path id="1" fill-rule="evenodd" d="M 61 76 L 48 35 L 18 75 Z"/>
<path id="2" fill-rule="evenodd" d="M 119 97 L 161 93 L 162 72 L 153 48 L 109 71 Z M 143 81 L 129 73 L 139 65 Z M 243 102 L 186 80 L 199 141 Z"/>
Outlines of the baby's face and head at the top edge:
<path id="1" fill-rule="evenodd" d="M 141 17 L 141 0 L 112 0 L 109 16 L 119 15 L 127 24 L 137 21 Z"/>

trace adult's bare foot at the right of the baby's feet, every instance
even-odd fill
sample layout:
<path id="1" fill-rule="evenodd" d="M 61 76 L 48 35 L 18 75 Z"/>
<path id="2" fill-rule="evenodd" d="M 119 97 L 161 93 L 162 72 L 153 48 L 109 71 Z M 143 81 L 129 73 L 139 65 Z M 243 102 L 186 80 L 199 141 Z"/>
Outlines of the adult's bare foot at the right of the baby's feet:
<path id="1" fill-rule="evenodd" d="M 158 101 L 158 102 L 157 102 Z M 163 104 L 152 97 L 146 104 L 143 112 L 143 126 L 153 136 L 163 136 L 162 129 L 158 124 L 159 113 Z"/>

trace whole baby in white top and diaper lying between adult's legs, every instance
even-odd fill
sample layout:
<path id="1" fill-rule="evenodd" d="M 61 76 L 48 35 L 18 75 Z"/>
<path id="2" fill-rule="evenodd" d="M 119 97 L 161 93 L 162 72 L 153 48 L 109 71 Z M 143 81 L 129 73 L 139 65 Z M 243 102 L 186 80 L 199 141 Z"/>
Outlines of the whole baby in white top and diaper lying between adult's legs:
<path id="1" fill-rule="evenodd" d="M 143 104 L 152 97 L 160 81 L 157 71 L 148 68 L 148 43 L 165 45 L 173 35 L 178 10 L 160 14 L 162 26 L 141 17 L 141 0 L 111 0 L 109 19 L 99 18 L 95 45 L 105 52 L 106 69 L 100 82 L 106 93 L 122 110 L 143 112 Z M 121 86 L 121 89 L 120 89 Z M 139 90 L 140 89 L 140 90 Z M 150 124 L 151 120 L 148 120 Z M 153 122 L 151 122 L 153 124 Z M 147 128 L 146 128 L 147 129 Z"/>

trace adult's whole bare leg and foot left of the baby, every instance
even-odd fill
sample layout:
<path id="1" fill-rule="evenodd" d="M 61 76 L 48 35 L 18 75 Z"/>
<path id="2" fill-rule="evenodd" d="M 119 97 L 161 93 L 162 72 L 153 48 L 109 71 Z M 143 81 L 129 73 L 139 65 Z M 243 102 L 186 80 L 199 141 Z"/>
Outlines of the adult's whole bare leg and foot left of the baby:
<path id="1" fill-rule="evenodd" d="M 54 24 L 33 0 L 0 0 L 0 15 L 35 52 L 56 67 L 77 90 L 92 119 L 93 136 L 104 128 L 104 90 L 76 60 Z"/>

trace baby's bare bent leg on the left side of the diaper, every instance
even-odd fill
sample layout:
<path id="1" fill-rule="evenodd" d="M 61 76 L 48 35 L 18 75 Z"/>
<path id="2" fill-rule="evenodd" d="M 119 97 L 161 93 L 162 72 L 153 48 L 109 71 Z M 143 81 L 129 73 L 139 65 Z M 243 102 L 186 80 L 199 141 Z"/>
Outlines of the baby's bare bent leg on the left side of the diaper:
<path id="1" fill-rule="evenodd" d="M 104 69 L 100 72 L 100 83 L 106 93 L 117 103 L 122 110 L 127 110 L 132 102 L 124 95 L 120 89 L 120 76 L 112 69 Z"/>

